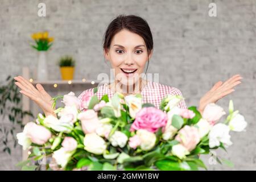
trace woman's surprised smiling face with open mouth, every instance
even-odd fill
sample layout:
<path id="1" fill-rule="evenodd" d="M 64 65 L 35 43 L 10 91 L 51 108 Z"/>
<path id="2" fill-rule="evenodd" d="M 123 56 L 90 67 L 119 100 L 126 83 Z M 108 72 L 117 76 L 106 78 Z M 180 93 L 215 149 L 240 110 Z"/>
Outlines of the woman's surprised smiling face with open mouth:
<path id="1" fill-rule="evenodd" d="M 110 48 L 105 51 L 106 60 L 114 69 L 115 80 L 124 85 L 138 81 L 151 55 L 152 51 L 147 55 L 144 39 L 125 29 L 114 35 Z"/>

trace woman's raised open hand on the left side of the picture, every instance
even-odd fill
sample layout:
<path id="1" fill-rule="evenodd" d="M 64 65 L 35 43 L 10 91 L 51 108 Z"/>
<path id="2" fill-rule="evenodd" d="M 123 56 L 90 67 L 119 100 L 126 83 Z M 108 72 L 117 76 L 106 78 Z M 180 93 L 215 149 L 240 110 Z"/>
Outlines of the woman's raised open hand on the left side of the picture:
<path id="1" fill-rule="evenodd" d="M 52 109 L 52 97 L 44 90 L 41 84 L 36 84 L 36 89 L 35 86 L 22 76 L 14 77 L 14 80 L 17 81 L 15 84 L 21 89 L 19 92 L 34 101 L 43 110 L 46 117 L 47 115 L 54 115 L 56 117 L 54 113 L 55 108 Z"/>

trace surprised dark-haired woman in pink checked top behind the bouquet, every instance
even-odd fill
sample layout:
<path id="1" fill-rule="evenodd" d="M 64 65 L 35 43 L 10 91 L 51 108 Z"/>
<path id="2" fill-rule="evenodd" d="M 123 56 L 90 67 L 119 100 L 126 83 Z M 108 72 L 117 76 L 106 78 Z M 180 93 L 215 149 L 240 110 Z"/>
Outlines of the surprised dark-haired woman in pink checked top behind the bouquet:
<path id="1" fill-rule="evenodd" d="M 115 92 L 125 95 L 141 93 L 143 103 L 150 102 L 159 107 L 160 101 L 166 94 L 180 95 L 179 89 L 159 84 L 142 78 L 144 67 L 152 56 L 153 40 L 150 27 L 146 20 L 135 15 L 119 15 L 108 26 L 105 32 L 104 56 L 112 65 L 115 79 L 112 84 L 104 84 L 98 87 L 97 96 L 101 98 L 108 94 L 110 98 Z M 147 70 L 146 70 L 147 71 Z M 44 114 L 55 115 L 51 109 L 51 96 L 44 90 L 41 84 L 36 88 L 22 76 L 14 77 L 15 84 L 22 90 L 20 92 L 35 101 L 42 108 Z M 199 102 L 199 111 L 202 113 L 205 106 L 217 102 L 220 98 L 232 93 L 234 86 L 241 84 L 242 77 L 235 75 L 229 80 L 218 81 Z M 93 89 L 82 92 L 79 96 L 81 101 L 87 94 L 92 94 Z M 179 104 L 180 108 L 187 107 L 185 102 Z M 84 109 L 81 106 L 81 110 Z"/>

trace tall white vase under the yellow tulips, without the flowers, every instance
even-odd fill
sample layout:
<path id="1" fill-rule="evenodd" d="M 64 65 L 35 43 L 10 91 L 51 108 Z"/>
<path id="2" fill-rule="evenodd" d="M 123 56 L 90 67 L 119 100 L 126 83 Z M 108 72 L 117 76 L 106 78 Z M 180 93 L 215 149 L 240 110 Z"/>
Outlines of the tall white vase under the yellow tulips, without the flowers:
<path id="1" fill-rule="evenodd" d="M 46 51 L 38 51 L 38 70 L 37 70 L 37 80 L 47 81 L 48 80 L 48 68 Z"/>

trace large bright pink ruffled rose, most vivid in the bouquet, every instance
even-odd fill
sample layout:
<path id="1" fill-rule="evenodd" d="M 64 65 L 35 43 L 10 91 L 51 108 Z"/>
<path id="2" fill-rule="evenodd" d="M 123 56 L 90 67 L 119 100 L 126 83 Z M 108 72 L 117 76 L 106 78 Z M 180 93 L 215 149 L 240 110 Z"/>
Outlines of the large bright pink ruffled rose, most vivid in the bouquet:
<path id="1" fill-rule="evenodd" d="M 143 107 L 136 114 L 135 121 L 131 125 L 130 131 L 144 129 L 155 133 L 159 127 L 166 126 L 167 114 L 155 107 Z"/>

